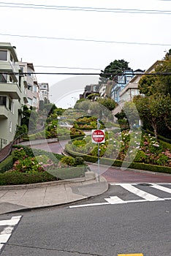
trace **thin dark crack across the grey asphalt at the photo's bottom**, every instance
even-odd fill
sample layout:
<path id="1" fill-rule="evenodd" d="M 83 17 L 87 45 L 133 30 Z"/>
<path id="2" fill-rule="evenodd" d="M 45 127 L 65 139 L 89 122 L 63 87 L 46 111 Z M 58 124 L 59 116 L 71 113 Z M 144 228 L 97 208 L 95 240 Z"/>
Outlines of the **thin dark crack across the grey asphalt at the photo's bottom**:
<path id="1" fill-rule="evenodd" d="M 47 248 L 47 247 L 40 247 L 40 246 L 26 246 L 22 244 L 12 244 L 12 243 L 7 243 L 8 246 L 18 246 L 18 247 L 23 247 L 23 248 L 30 248 L 30 249 L 42 249 L 42 250 L 47 250 L 47 251 L 55 251 L 55 252 L 69 252 L 69 253 L 77 253 L 80 255 L 91 255 L 91 256 L 105 256 L 105 255 L 99 255 L 91 252 L 78 252 L 78 251 L 72 251 L 72 250 L 66 250 L 66 249 L 53 249 L 53 248 Z"/>

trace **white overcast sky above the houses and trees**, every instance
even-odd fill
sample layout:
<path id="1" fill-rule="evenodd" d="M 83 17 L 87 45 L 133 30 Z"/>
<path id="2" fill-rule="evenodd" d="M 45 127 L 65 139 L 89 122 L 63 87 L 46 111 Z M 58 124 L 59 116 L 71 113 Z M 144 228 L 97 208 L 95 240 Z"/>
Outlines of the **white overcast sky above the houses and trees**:
<path id="1" fill-rule="evenodd" d="M 132 69 L 148 69 L 171 48 L 171 1 L 16 0 L 3 3 L 6 4 L 0 2 L 0 41 L 15 45 L 18 59 L 33 63 L 36 72 L 98 73 L 115 59 L 128 61 Z M 74 67 L 80 69 L 72 69 Z M 72 75 L 37 75 L 37 79 L 39 83 L 49 83 L 50 97 L 58 107 L 69 108 L 79 97 Z M 88 78 L 84 84 L 84 79 L 80 91 L 91 83 Z M 98 76 L 93 76 L 92 83 L 96 81 Z M 61 84 L 65 87 L 64 95 L 69 94 L 66 99 L 61 97 Z"/>

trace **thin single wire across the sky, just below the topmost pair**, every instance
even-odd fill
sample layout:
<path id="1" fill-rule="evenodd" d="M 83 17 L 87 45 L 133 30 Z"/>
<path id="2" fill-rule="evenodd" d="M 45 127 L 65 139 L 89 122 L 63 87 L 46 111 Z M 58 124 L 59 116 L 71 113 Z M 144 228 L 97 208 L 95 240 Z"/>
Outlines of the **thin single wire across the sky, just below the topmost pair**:
<path id="1" fill-rule="evenodd" d="M 66 41 L 77 41 L 77 42 L 102 42 L 102 43 L 113 43 L 113 44 L 124 44 L 124 45 L 155 45 L 155 46 L 171 46 L 171 44 L 161 44 L 152 42 L 118 42 L 118 41 L 105 41 L 96 39 L 81 39 L 81 38 L 66 38 L 66 37 L 38 37 L 38 36 L 28 36 L 21 34 L 2 34 L 2 36 L 8 37 L 27 37 L 27 38 L 37 38 L 37 39 L 52 39 L 52 40 L 66 40 Z"/>

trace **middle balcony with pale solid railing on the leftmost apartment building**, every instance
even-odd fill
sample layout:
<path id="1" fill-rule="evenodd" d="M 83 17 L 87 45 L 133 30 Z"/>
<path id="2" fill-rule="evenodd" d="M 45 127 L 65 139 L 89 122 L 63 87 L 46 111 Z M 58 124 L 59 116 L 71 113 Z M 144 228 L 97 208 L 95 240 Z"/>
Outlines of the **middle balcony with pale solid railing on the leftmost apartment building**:
<path id="1" fill-rule="evenodd" d="M 21 91 L 15 83 L 0 83 L 1 94 L 9 95 L 11 99 L 20 99 Z"/>

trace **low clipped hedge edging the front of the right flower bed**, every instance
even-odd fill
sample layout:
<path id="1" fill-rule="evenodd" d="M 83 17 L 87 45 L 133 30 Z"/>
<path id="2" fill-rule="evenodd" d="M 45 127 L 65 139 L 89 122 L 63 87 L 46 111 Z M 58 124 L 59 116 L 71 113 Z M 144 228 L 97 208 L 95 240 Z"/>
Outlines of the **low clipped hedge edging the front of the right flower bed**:
<path id="1" fill-rule="evenodd" d="M 86 162 L 97 162 L 98 157 L 93 157 L 90 155 L 86 154 L 81 154 L 75 151 L 70 150 L 66 146 L 66 152 L 71 155 L 72 157 L 83 157 L 83 159 Z M 137 169 L 137 170 L 148 170 L 148 171 L 153 171 L 153 172 L 159 172 L 159 173 L 170 173 L 171 174 L 171 167 L 166 167 L 166 166 L 159 166 L 159 165 L 148 165 L 140 162 L 123 162 L 121 160 L 113 160 L 110 158 L 100 158 L 100 164 L 101 165 L 110 165 L 110 166 L 117 166 L 117 167 L 128 167 L 132 169 Z"/>

